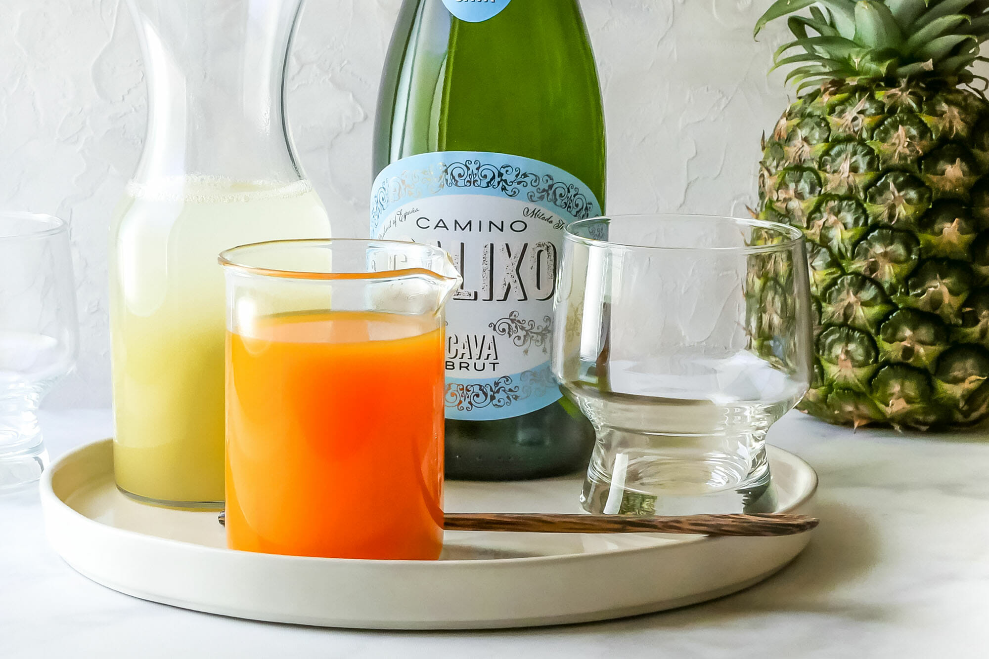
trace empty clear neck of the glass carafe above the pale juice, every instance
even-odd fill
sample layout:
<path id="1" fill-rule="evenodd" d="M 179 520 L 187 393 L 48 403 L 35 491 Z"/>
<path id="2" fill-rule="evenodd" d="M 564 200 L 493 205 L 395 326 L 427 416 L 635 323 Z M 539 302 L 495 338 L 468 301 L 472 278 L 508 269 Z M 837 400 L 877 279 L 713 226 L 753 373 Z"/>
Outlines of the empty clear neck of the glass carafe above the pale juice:
<path id="1" fill-rule="evenodd" d="M 147 80 L 135 180 L 303 178 L 285 68 L 303 0 L 130 0 Z"/>

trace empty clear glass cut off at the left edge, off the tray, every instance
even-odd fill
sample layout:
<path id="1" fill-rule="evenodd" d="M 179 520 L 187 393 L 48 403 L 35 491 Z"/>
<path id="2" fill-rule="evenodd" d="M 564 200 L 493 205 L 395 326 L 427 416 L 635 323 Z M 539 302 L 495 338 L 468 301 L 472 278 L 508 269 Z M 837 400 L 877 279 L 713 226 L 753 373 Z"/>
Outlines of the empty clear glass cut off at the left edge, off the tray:
<path id="1" fill-rule="evenodd" d="M 0 212 L 0 492 L 33 483 L 45 468 L 36 412 L 72 368 L 76 335 L 65 222 Z"/>

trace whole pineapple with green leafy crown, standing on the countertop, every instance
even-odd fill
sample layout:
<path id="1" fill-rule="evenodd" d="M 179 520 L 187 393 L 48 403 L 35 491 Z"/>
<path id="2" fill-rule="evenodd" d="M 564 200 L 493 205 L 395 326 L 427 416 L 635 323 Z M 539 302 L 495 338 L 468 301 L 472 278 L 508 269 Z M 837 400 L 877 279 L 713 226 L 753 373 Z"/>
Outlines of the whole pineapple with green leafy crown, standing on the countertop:
<path id="1" fill-rule="evenodd" d="M 807 238 L 832 423 L 989 415 L 989 103 L 968 88 L 989 0 L 778 0 L 797 101 L 764 137 L 759 216 Z M 798 53 L 799 52 L 799 53 Z"/>

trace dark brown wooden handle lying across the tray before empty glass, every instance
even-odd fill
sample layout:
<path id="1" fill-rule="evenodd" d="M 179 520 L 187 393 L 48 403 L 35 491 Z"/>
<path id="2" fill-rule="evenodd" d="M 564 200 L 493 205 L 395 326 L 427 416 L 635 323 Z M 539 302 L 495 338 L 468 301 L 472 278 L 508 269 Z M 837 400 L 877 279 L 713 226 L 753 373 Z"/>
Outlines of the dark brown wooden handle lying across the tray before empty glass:
<path id="1" fill-rule="evenodd" d="M 794 535 L 817 526 L 806 515 L 684 515 L 620 517 L 614 515 L 544 515 L 541 513 L 447 513 L 447 531 L 514 531 L 540 534 L 695 534 Z"/>

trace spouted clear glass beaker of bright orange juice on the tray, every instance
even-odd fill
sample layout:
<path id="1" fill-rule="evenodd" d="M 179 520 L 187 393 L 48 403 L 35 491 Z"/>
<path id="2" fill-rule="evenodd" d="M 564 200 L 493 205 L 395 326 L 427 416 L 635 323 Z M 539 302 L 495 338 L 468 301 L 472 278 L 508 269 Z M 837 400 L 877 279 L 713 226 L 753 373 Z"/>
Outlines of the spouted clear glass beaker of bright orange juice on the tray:
<path id="1" fill-rule="evenodd" d="M 233 549 L 435 559 L 444 311 L 431 245 L 289 240 L 221 255 Z"/>

